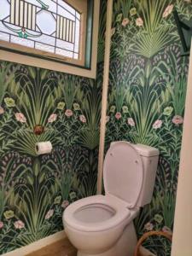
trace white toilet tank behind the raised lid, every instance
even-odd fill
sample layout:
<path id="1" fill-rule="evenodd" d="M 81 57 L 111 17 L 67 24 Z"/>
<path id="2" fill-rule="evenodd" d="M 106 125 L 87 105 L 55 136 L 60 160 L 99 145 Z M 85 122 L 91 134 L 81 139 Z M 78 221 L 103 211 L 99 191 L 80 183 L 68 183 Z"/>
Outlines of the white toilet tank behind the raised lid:
<path id="1" fill-rule="evenodd" d="M 137 201 L 137 207 L 143 207 L 150 203 L 152 199 L 160 152 L 157 148 L 143 144 L 135 144 L 133 146 L 143 160 L 143 185 Z"/>

